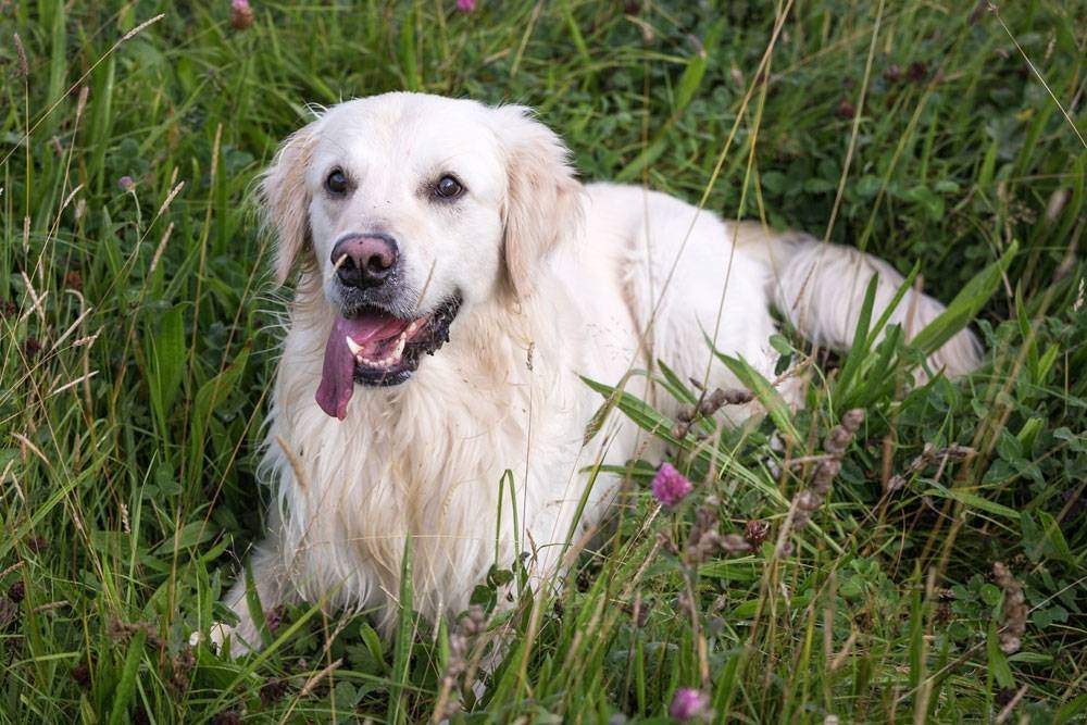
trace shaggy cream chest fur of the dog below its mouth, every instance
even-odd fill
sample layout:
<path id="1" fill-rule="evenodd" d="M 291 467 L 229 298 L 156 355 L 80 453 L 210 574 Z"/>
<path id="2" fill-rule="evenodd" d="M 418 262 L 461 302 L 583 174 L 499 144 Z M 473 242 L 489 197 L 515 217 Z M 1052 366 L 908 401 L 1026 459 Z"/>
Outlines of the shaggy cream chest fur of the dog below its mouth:
<path id="1" fill-rule="evenodd" d="M 528 547 L 514 522 L 561 500 L 552 488 L 569 483 L 560 471 L 573 474 L 576 445 L 551 435 L 551 405 L 530 386 L 440 384 L 415 391 L 429 397 L 360 396 L 345 421 L 309 409 L 278 418 L 291 424 L 273 432 L 291 453 L 270 452 L 285 550 L 308 598 L 388 603 L 410 535 L 416 609 L 455 612 L 496 559 L 510 564 L 515 540 Z"/>

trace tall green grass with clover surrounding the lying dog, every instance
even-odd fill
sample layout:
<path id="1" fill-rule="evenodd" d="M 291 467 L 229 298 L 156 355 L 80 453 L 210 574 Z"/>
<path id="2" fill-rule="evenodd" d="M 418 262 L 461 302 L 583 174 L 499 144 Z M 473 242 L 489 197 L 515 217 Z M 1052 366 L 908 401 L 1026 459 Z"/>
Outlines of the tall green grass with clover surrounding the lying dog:
<path id="1" fill-rule="evenodd" d="M 1087 8 L 995 4 L 254 2 L 240 30 L 225 0 L 0 3 L 0 721 L 422 722 L 440 701 L 666 722 L 690 687 L 738 722 L 1083 722 Z M 586 178 L 966 288 L 986 364 L 911 390 L 894 336 L 835 357 L 783 333 L 807 410 L 696 421 L 675 512 L 648 496 L 659 461 L 609 461 L 630 479 L 614 530 L 558 601 L 513 610 L 480 702 L 450 667 L 486 642 L 478 612 L 435 630 L 405 607 L 389 642 L 301 607 L 268 613 L 258 657 L 190 647 L 261 527 L 284 300 L 253 178 L 308 103 L 403 88 L 535 105 Z M 853 408 L 826 501 L 783 536 Z M 769 535 L 698 561 L 710 525 Z M 520 574 L 498 564 L 484 605 Z"/>

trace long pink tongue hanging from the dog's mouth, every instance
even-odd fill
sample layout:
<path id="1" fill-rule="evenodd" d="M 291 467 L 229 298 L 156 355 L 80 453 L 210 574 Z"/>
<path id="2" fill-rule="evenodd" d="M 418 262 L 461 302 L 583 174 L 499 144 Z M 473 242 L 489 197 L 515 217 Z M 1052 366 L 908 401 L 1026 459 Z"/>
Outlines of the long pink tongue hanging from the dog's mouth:
<path id="1" fill-rule="evenodd" d="M 371 340 L 387 340 L 410 324 L 392 315 L 376 312 L 360 314 L 348 320 L 336 315 L 333 332 L 325 343 L 325 362 L 321 370 L 321 385 L 317 386 L 317 404 L 328 415 L 343 420 L 347 403 L 354 392 L 354 355 L 347 346 L 348 336 L 366 347 Z"/>

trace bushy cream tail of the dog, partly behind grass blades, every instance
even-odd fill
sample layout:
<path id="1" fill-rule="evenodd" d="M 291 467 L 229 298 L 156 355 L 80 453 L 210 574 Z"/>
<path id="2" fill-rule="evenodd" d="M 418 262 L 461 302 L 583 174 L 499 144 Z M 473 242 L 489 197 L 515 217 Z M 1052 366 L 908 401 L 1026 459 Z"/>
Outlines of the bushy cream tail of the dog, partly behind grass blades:
<path id="1" fill-rule="evenodd" d="M 836 350 L 853 343 L 872 276 L 879 277 L 873 324 L 903 282 L 902 275 L 880 259 L 807 235 L 773 236 L 766 252 L 774 305 L 801 335 Z M 944 310 L 938 301 L 911 289 L 891 312 L 888 325 L 900 325 L 909 340 Z M 963 329 L 934 352 L 928 363 L 934 373 L 942 370 L 950 377 L 964 375 L 982 363 L 982 345 L 972 332 Z"/>

